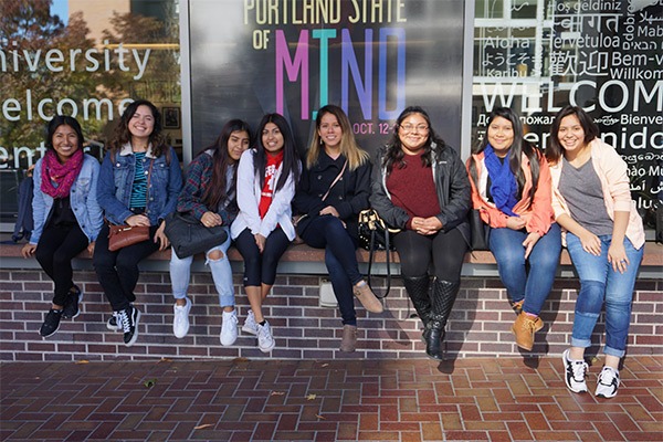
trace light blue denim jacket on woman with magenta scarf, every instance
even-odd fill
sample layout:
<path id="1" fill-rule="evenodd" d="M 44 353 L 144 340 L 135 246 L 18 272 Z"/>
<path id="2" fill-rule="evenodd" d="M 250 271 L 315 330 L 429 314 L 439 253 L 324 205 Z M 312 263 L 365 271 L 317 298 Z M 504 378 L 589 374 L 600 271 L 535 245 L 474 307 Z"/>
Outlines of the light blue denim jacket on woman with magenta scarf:
<path id="1" fill-rule="evenodd" d="M 34 230 L 30 236 L 30 243 L 36 244 L 41 238 L 44 227 L 51 218 L 53 208 L 53 197 L 41 190 L 42 183 L 42 159 L 34 166 L 34 193 L 32 198 L 32 218 L 34 220 Z M 70 202 L 72 211 L 78 221 L 81 230 L 90 242 L 96 240 L 104 219 L 102 208 L 96 198 L 96 186 L 99 177 L 99 161 L 96 158 L 85 155 L 83 166 L 70 190 Z"/>

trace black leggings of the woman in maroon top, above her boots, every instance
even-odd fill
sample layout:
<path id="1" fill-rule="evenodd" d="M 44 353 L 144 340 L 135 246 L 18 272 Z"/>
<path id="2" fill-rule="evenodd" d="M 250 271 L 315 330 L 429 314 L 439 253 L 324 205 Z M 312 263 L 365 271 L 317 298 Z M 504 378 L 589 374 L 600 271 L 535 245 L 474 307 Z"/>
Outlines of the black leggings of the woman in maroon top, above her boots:
<path id="1" fill-rule="evenodd" d="M 439 231 L 433 235 L 421 235 L 413 230 L 397 233 L 393 245 L 401 264 L 401 274 L 407 277 L 424 276 L 431 264 L 441 281 L 461 280 L 467 243 L 457 229 Z"/>

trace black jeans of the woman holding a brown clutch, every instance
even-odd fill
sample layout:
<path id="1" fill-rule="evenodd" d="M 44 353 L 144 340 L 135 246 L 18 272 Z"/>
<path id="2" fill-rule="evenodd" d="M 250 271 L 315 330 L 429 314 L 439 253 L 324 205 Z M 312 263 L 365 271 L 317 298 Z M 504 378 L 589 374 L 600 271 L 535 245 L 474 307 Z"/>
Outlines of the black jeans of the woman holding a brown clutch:
<path id="1" fill-rule="evenodd" d="M 154 238 L 157 227 L 149 228 L 149 240 L 116 252 L 108 250 L 108 225 L 104 224 L 94 248 L 93 264 L 99 284 L 114 312 L 119 312 L 136 301 L 134 288 L 138 283 L 138 263 L 159 250 Z"/>

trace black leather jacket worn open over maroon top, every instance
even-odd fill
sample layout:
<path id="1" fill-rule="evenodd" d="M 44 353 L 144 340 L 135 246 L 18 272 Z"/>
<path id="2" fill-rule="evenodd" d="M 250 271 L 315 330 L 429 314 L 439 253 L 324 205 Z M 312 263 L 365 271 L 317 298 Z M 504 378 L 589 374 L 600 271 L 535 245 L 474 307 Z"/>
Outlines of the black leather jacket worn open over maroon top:
<path id="1" fill-rule="evenodd" d="M 378 151 L 373 172 L 370 206 L 378 211 L 380 217 L 390 225 L 406 228 L 410 219 L 404 209 L 393 206 L 391 196 L 387 190 L 387 170 L 382 165 L 386 148 Z M 438 201 L 441 212 L 438 219 L 445 232 L 459 229 L 470 244 L 470 224 L 467 212 L 472 208 L 470 180 L 467 171 L 459 154 L 446 146 L 438 155 L 433 152 L 433 179 L 438 190 Z"/>

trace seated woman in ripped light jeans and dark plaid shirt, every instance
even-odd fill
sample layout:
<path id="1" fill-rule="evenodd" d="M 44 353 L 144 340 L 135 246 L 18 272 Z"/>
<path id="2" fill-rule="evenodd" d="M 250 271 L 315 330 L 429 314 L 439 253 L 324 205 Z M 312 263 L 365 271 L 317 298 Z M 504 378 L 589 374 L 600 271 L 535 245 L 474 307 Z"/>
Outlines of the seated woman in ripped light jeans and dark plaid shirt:
<path id="1" fill-rule="evenodd" d="M 228 260 L 230 224 L 236 217 L 236 162 L 249 148 L 249 125 L 241 119 L 231 119 L 221 129 L 217 141 L 202 150 L 189 165 L 185 187 L 177 201 L 179 212 L 188 212 L 208 228 L 222 225 L 228 240 L 206 252 L 207 264 L 219 293 L 223 309 L 221 320 L 221 345 L 233 345 L 238 338 L 238 315 L 234 308 L 232 270 Z M 191 280 L 193 256 L 179 257 L 175 250 L 170 255 L 170 282 L 175 296 L 172 333 L 183 338 L 189 333 L 191 299 L 187 297 Z"/>

